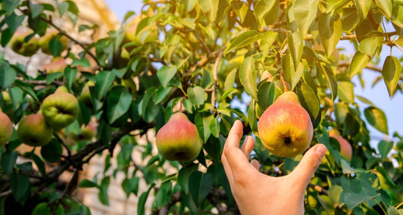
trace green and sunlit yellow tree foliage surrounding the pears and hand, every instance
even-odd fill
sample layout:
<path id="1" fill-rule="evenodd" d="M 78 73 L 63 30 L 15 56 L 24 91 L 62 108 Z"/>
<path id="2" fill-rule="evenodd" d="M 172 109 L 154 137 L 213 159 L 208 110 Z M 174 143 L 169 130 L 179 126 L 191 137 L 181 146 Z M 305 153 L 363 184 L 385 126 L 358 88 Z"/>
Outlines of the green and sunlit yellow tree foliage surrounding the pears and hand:
<path id="1" fill-rule="evenodd" d="M 75 24 L 79 14 L 69 0 L 56 1 L 55 6 L 29 0 L 0 2 L 3 47 L 24 19 L 35 37 L 42 37 L 47 28 L 57 27 L 51 16 L 66 16 Z M 259 117 L 289 84 L 314 125 L 311 145 L 323 143 L 328 148 L 306 190 L 305 212 L 403 214 L 399 208 L 403 202 L 403 137 L 394 133 L 396 142 L 382 140 L 375 148 L 370 145 L 367 127 L 389 134 L 387 119 L 376 104 L 354 94 L 351 82 L 357 76 L 362 86 L 367 84 L 363 80 L 367 70 L 363 69 L 368 68 L 379 73 L 374 82 L 383 79 L 389 96 L 402 91 L 403 59 L 391 55 L 382 68 L 376 66 L 382 49 L 403 49 L 402 1 L 145 0 L 140 15 L 129 12 L 126 18 L 122 28 L 91 44 L 69 37 L 83 51 L 78 55 L 69 49 L 63 52 L 72 63 L 62 72 L 39 71 L 32 77 L 26 74 L 26 65 L 1 60 L 0 86 L 10 98 L 3 94 L 0 104 L 15 125 L 23 116 L 36 113 L 42 100 L 63 84 L 79 98 L 89 92 L 87 99 L 80 99 L 77 121 L 65 133 L 80 133 L 81 126 L 93 117 L 98 135 L 96 141 L 66 145 L 65 137 L 55 134 L 40 154 L 33 150 L 22 155 L 36 164 L 37 171 L 32 162 L 16 163 L 15 149 L 22 143 L 13 135 L 0 149 L 0 198 L 12 194 L 22 205 L 38 196 L 49 202 L 38 204 L 33 214 L 49 214 L 48 208 L 56 214 L 89 213 L 71 197 L 67 189 L 71 185 L 60 193 L 55 184 L 62 172 L 72 168 L 77 174 L 93 156 L 108 149 L 104 172 L 113 156 L 118 161 L 113 174 L 79 182 L 83 188 L 99 188 L 99 199 L 105 205 L 111 177 L 123 172 L 122 188 L 127 196 L 139 197 L 139 215 L 145 213 L 150 196 L 155 197 L 154 214 L 208 214 L 214 207 L 220 213 L 237 213 L 220 162 L 225 137 L 233 122 L 241 119 L 244 135 L 256 136 L 252 157 L 262 164 L 260 171 L 272 176 L 289 174 L 301 155 L 284 159 L 270 154 L 257 132 Z M 385 32 L 388 23 L 395 31 Z M 78 27 L 80 32 L 94 28 L 97 26 Z M 355 46 L 352 57 L 336 49 L 341 40 Z M 58 38 L 50 42 L 55 56 L 60 44 Z M 89 60 L 96 61 L 92 72 L 85 69 Z M 264 72 L 273 76 L 270 82 L 262 79 Z M 247 110 L 239 106 L 247 106 Z M 140 135 L 148 129 L 157 132 L 182 107 L 204 142 L 204 153 L 197 161 L 168 162 L 152 154 L 151 143 L 137 143 L 131 131 L 139 130 Z M 352 145 L 351 161 L 340 156 L 340 145 L 329 137 L 330 129 L 340 131 Z M 117 144 L 122 150 L 112 154 Z M 61 147 L 68 154 L 50 153 L 60 152 Z M 134 163 L 133 151 L 141 153 L 146 165 Z M 56 166 L 49 171 L 45 163 Z M 133 174 L 129 174 L 130 166 L 135 166 Z M 177 173 L 167 175 L 167 166 Z M 207 171 L 202 172 L 202 166 Z M 137 172 L 147 182 L 146 192 L 138 192 Z M 46 186 L 49 189 L 44 190 Z M 0 208 L 4 207 L 4 200 L 0 201 Z"/>

